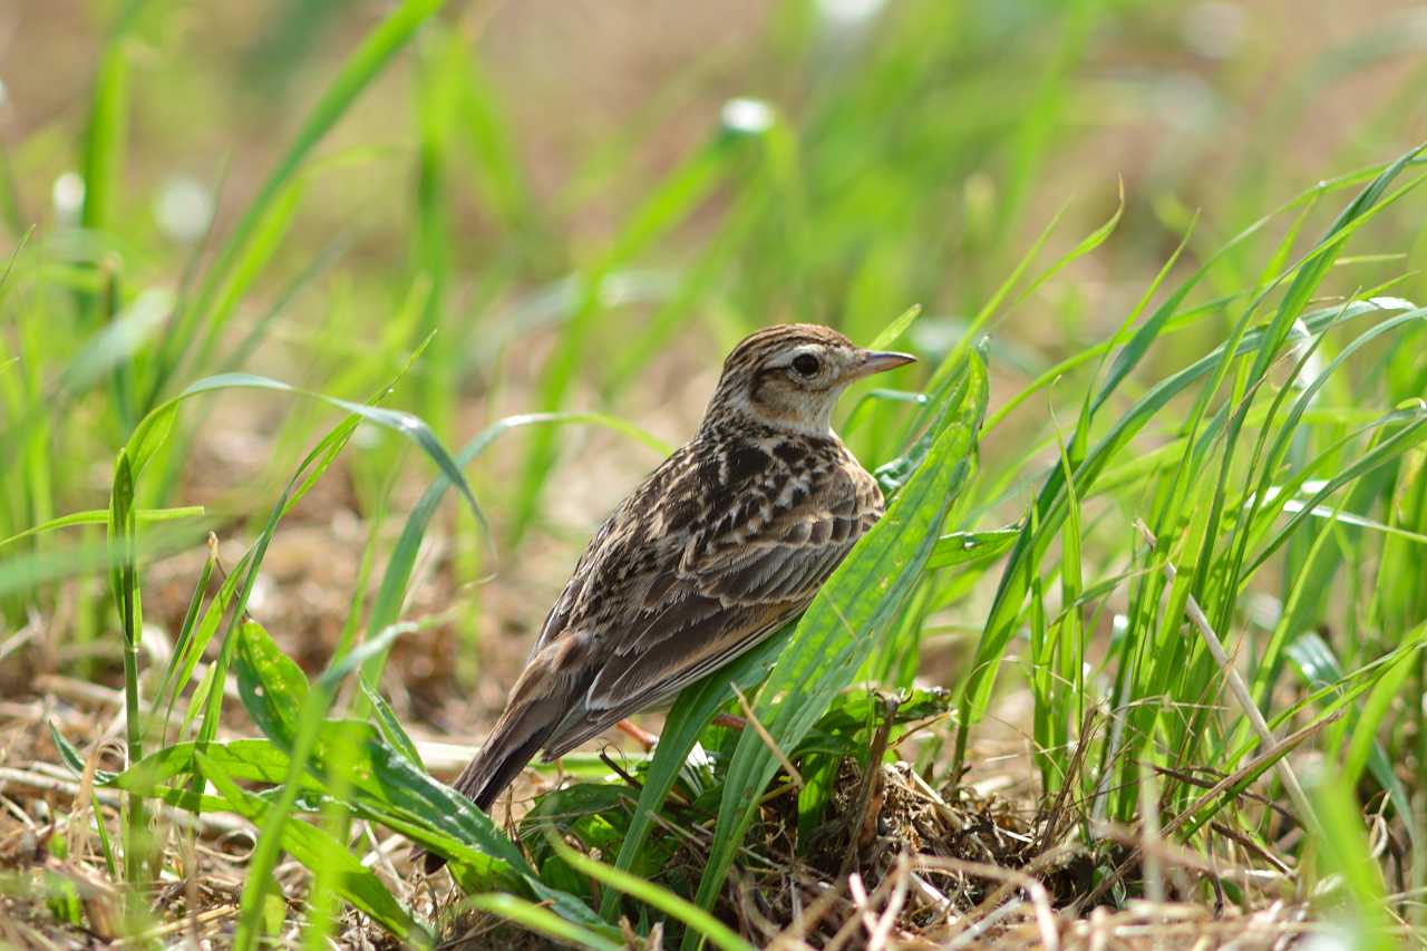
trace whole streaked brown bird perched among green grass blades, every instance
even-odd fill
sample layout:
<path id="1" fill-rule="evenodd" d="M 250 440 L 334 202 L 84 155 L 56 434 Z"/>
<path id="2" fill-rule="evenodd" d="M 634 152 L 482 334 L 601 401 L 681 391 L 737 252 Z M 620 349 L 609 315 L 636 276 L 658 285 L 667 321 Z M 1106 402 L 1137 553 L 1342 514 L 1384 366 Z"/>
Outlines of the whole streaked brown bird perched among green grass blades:
<path id="1" fill-rule="evenodd" d="M 488 811 L 537 753 L 552 761 L 672 700 L 806 608 L 883 513 L 833 407 L 912 361 L 819 324 L 733 347 L 694 438 L 595 531 L 454 788 Z M 428 872 L 444 862 L 425 855 Z"/>

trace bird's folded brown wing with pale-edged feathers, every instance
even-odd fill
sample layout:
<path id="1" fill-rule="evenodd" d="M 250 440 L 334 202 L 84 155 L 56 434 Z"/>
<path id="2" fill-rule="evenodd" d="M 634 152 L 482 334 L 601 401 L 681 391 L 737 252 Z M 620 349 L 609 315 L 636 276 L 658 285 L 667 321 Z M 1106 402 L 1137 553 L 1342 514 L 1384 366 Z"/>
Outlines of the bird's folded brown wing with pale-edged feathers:
<path id="1" fill-rule="evenodd" d="M 756 514 L 691 538 L 676 563 L 651 565 L 635 585 L 642 597 L 632 598 L 634 610 L 599 633 L 605 660 L 547 741 L 547 755 L 668 700 L 758 644 L 808 605 L 879 514 L 875 483 L 833 468 L 801 495 L 769 498 Z"/>

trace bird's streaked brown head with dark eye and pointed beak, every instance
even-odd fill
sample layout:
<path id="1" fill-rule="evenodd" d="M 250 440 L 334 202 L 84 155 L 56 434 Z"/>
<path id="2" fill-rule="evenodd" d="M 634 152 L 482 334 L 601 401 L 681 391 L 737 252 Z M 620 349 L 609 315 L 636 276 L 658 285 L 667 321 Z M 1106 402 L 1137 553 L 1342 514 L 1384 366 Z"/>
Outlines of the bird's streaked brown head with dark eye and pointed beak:
<path id="1" fill-rule="evenodd" d="M 779 324 L 746 337 L 723 361 L 705 424 L 743 416 L 776 430 L 826 436 L 849 383 L 912 363 L 863 350 L 831 327 Z"/>

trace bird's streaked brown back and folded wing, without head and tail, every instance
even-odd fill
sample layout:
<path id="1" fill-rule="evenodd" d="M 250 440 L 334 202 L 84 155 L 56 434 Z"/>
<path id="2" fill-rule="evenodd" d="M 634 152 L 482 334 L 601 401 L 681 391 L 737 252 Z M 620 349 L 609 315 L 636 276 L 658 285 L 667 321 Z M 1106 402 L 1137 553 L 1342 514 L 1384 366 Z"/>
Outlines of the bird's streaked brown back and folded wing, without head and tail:
<path id="1" fill-rule="evenodd" d="M 836 437 L 701 430 L 605 521 L 545 621 L 531 660 L 564 644 L 579 697 L 547 758 L 756 644 L 880 514 Z"/>

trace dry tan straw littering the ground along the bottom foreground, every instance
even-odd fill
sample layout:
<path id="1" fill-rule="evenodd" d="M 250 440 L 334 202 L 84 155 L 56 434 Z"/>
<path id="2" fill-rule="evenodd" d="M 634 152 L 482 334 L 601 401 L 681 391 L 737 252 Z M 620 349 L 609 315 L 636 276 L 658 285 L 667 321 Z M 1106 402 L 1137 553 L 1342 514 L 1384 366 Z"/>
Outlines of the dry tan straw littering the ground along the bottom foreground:
<path id="1" fill-rule="evenodd" d="M 40 625 L 13 635 L 6 654 L 39 650 Z M 93 765 L 116 765 L 123 694 L 54 674 L 40 675 L 20 698 L 0 701 L 0 874 L 9 880 L 0 905 L 0 937 L 13 947 L 147 947 L 153 942 L 221 947 L 238 912 L 244 864 L 255 828 L 228 814 L 204 814 L 197 825 L 187 812 L 166 810 L 160 828 L 183 874 L 167 874 L 148 897 L 151 921 L 138 932 L 120 928 L 123 902 L 110 884 L 98 844 L 86 831 L 86 814 L 98 808 L 113 824 L 118 795 L 96 790 L 91 775 L 76 780 L 57 765 L 49 738 L 54 724 L 93 750 Z M 915 750 L 946 730 L 945 718 L 918 724 L 898 751 Z M 1284 740 L 1297 744 L 1304 735 Z M 879 730 L 875 743 L 888 743 Z M 1020 748 L 1017 748 L 1020 747 Z M 434 763 L 455 765 L 462 750 L 427 744 Z M 624 773 L 609 754 L 615 774 Z M 845 760 L 836 777 L 832 818 L 798 848 L 799 777 L 783 775 L 766 795 L 759 825 L 716 905 L 716 914 L 768 948 L 1279 948 L 1323 930 L 1297 888 L 1287 854 L 1256 845 L 1229 824 L 1230 815 L 1260 815 L 1273 802 L 1246 792 L 1224 821 L 1214 822 L 1213 848 L 1192 852 L 1162 837 L 1174 817 L 1159 817 L 1160 830 L 1114 828 L 1095 820 L 1093 804 L 1057 797 L 1036 801 L 1023 744 L 1009 740 L 977 750 L 977 778 L 933 788 L 912 763 L 885 763 L 875 771 Z M 1253 773 L 1234 775 L 1164 774 L 1212 798 Z M 541 783 L 542 787 L 548 783 Z M 632 787 L 631 787 L 632 788 Z M 1072 788 L 1066 785 L 1065 788 Z M 528 801 L 532 790 L 524 790 Z M 619 798 L 632 810 L 634 795 Z M 517 812 L 521 810 L 517 808 Z M 548 817 L 547 817 L 548 818 Z M 577 817 L 562 815 L 565 821 Z M 1284 817 L 1283 837 L 1296 828 Z M 519 822 L 512 821 L 512 832 Z M 699 868 L 711 830 L 688 804 L 674 802 L 661 818 L 662 832 L 678 842 L 669 868 Z M 1096 847 L 1082 831 L 1093 828 Z M 1378 845 L 1393 832 L 1377 825 Z M 194 834 L 195 832 L 195 834 Z M 57 850 L 51 838 L 63 838 Z M 407 842 L 385 830 L 367 828 L 374 864 L 414 910 L 441 922 L 442 947 L 537 948 L 545 938 L 512 931 L 501 918 L 471 911 L 442 877 L 424 880 L 407 857 Z M 60 857 L 63 855 L 63 857 Z M 273 914 L 297 922 L 307 870 L 287 861 L 277 870 L 283 901 Z M 57 888 L 60 885 L 60 888 Z M 1204 902 L 1207 892 L 1217 902 Z M 83 908 L 84 927 L 63 927 L 54 895 Z M 1113 897 L 1119 910 L 1102 900 Z M 1233 900 L 1230 900 L 1233 897 Z M 625 928 L 631 948 L 659 948 L 665 935 L 648 938 Z M 341 947 L 394 947 L 390 935 L 352 910 L 334 935 Z M 298 940 L 297 925 L 281 934 Z"/>

